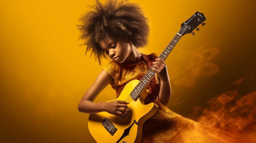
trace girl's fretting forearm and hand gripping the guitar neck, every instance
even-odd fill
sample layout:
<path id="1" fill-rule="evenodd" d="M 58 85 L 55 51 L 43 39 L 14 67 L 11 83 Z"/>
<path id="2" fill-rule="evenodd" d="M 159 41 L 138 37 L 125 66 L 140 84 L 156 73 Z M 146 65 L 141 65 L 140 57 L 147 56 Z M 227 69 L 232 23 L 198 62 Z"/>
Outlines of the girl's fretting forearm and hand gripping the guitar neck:
<path id="1" fill-rule="evenodd" d="M 153 62 L 153 64 L 153 70 L 157 73 L 157 75 L 160 78 L 160 91 L 158 99 L 161 103 L 167 105 L 171 98 L 171 84 L 167 66 L 161 58 L 155 59 L 155 62 Z"/>

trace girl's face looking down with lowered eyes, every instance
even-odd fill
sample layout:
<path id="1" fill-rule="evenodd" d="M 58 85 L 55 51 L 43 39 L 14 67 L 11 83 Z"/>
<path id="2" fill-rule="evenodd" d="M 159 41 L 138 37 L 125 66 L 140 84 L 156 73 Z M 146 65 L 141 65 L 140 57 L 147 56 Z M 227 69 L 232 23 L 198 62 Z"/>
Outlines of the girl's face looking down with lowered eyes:
<path id="1" fill-rule="evenodd" d="M 106 37 L 99 45 L 110 59 L 118 63 L 126 63 L 131 52 L 131 44 L 128 40 Z"/>

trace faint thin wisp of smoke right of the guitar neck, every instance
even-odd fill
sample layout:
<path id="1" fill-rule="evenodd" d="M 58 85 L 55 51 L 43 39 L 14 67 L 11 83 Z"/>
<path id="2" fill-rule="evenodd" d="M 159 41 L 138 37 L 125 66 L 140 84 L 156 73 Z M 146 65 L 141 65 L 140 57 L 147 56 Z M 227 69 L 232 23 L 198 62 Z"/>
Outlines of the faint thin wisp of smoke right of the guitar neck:
<path id="1" fill-rule="evenodd" d="M 191 88 L 195 85 L 200 77 L 215 75 L 219 71 L 219 67 L 212 62 L 219 49 L 216 47 L 208 47 L 207 43 L 193 51 L 177 52 L 177 57 L 188 57 L 184 63 L 179 63 L 177 68 L 170 70 L 170 79 L 175 79 L 174 84 Z M 186 55 L 186 56 L 184 56 Z"/>

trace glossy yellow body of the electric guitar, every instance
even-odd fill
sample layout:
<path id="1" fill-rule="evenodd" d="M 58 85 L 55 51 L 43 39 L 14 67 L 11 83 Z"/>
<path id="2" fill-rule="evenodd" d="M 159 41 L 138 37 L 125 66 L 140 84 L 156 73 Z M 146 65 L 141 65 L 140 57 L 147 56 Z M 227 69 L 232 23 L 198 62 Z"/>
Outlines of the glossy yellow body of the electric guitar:
<path id="1" fill-rule="evenodd" d="M 90 114 L 88 128 L 97 143 L 139 143 L 141 141 L 143 124 L 157 112 L 158 106 L 155 103 L 143 104 L 148 95 L 146 88 L 142 90 L 140 97 L 136 101 L 131 99 L 130 92 L 138 83 L 139 80 L 128 82 L 121 95 L 115 99 L 122 101 L 129 99 L 128 107 L 130 112 L 124 119 L 108 112 Z M 110 119 L 108 120 L 111 123 L 110 130 L 112 131 L 112 125 L 114 126 L 113 128 L 116 128 L 112 134 L 102 124 L 106 117 Z"/>

